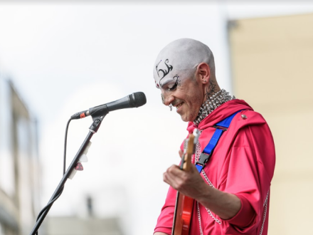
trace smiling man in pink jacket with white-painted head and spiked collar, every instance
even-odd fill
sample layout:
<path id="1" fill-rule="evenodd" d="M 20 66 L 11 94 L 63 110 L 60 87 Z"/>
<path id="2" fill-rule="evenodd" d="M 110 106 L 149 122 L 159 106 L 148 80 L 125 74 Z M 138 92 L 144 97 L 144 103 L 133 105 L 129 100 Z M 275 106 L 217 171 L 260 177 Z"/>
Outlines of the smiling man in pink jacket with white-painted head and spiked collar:
<path id="1" fill-rule="evenodd" d="M 201 131 L 195 163 L 214 125 L 238 112 L 199 174 L 172 165 L 170 185 L 154 235 L 171 234 L 176 190 L 195 199 L 189 234 L 267 234 L 270 182 L 275 167 L 272 135 L 262 115 L 221 90 L 208 46 L 192 39 L 169 43 L 157 56 L 154 80 L 164 105 L 176 108 L 187 130 Z M 180 155 L 183 145 L 181 145 Z"/>

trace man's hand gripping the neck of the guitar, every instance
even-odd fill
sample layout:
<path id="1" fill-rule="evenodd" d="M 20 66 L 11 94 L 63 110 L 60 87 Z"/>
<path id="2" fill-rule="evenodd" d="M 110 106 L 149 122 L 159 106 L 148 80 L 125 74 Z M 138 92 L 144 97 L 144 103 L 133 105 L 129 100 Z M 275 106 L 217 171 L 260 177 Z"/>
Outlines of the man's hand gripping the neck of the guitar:
<path id="1" fill-rule="evenodd" d="M 179 166 L 172 165 L 163 174 L 163 180 L 174 189 L 193 199 L 203 197 L 208 184 L 204 182 L 196 167 L 191 164 L 189 172 L 179 169 Z"/>

